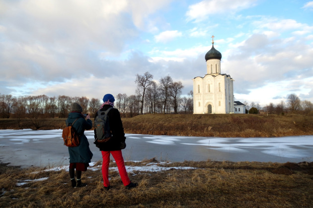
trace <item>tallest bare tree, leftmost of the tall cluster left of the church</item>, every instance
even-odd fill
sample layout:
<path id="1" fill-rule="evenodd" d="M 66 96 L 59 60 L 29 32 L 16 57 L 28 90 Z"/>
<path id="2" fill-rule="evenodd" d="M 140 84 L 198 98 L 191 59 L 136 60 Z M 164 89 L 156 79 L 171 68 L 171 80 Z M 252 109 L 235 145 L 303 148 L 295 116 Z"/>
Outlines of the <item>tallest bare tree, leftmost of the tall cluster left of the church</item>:
<path id="1" fill-rule="evenodd" d="M 153 75 L 148 71 L 144 75 L 136 74 L 136 93 L 141 97 L 140 114 L 143 114 L 146 89 L 152 84 Z"/>

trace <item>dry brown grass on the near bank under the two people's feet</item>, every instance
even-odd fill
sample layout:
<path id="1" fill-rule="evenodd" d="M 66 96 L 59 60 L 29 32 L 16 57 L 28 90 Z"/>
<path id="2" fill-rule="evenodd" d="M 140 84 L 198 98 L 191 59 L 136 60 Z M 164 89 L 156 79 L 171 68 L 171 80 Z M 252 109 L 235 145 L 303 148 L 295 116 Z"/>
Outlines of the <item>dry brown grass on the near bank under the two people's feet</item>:
<path id="1" fill-rule="evenodd" d="M 109 191 L 101 191 L 101 170 L 82 175 L 88 185 L 72 188 L 68 172 L 1 166 L 0 207 L 312 207 L 313 163 L 185 161 L 158 163 L 155 159 L 126 162 L 145 166 L 155 162 L 167 171 L 129 173 L 139 187 L 126 190 L 117 172 L 110 171 Z M 115 165 L 114 163 L 111 164 Z M 195 169 L 182 170 L 175 167 Z M 47 180 L 16 183 L 48 177 Z"/>

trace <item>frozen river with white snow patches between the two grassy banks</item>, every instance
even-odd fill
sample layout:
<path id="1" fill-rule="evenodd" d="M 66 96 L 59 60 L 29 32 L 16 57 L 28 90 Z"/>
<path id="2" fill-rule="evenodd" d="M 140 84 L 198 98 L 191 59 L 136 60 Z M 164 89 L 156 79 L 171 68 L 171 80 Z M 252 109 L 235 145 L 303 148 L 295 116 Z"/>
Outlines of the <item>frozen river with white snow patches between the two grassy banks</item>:
<path id="1" fill-rule="evenodd" d="M 0 130 L 0 161 L 11 165 L 57 166 L 69 163 L 62 130 Z M 92 161 L 101 158 L 93 131 L 85 131 Z M 126 134 L 125 160 L 156 157 L 168 161 L 313 161 L 313 135 L 278 138 L 217 138 Z"/>

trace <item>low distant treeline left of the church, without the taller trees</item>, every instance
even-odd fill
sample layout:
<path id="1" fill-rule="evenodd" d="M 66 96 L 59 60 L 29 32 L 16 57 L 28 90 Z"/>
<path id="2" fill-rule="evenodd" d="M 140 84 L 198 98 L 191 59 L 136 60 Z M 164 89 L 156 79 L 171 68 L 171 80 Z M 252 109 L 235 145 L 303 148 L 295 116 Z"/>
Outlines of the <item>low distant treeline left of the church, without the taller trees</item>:
<path id="1" fill-rule="evenodd" d="M 133 117 L 140 114 L 141 99 L 139 96 L 126 94 L 118 94 L 115 97 L 114 107 L 119 109 L 122 117 Z M 192 113 L 193 101 L 192 97 L 180 98 L 180 113 Z M 71 111 L 71 105 L 76 102 L 83 108 L 84 113 L 89 113 L 91 117 L 100 108 L 102 101 L 99 99 L 88 99 L 86 97 L 69 97 L 58 96 L 48 97 L 40 96 L 21 96 L 13 97 L 12 95 L 0 95 L 0 118 L 65 118 Z M 162 102 L 157 100 L 153 103 L 154 108 L 150 108 L 149 103 L 144 105 L 145 113 L 162 113 Z M 188 105 L 188 106 L 187 106 Z M 166 108 L 169 112 L 170 105 Z M 184 109 L 181 111 L 181 109 Z"/>

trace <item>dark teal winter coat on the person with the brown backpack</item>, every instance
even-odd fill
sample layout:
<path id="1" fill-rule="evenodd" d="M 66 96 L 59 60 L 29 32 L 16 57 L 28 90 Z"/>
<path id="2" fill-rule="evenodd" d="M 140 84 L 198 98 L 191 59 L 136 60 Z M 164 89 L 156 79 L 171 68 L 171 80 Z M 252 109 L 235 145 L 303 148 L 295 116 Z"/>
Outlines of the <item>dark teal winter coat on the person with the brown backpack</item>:
<path id="1" fill-rule="evenodd" d="M 93 154 L 89 149 L 89 142 L 84 135 L 84 131 L 92 128 L 92 121 L 90 119 L 85 120 L 81 113 L 71 112 L 67 119 L 67 125 L 73 123 L 75 119 L 77 119 L 77 121 L 74 123 L 73 127 L 79 135 L 79 146 L 69 147 L 70 163 L 89 163 Z"/>

